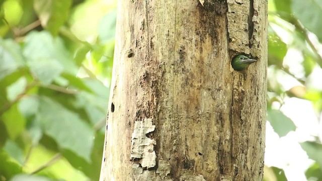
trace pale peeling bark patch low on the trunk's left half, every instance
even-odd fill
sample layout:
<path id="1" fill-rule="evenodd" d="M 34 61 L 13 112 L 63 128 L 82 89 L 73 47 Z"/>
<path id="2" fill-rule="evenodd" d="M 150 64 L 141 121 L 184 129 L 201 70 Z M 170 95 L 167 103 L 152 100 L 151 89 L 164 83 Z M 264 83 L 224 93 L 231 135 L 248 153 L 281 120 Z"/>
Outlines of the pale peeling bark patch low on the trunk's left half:
<path id="1" fill-rule="evenodd" d="M 143 168 L 152 168 L 155 166 L 156 154 L 153 145 L 155 140 L 146 137 L 147 133 L 154 131 L 152 119 L 135 121 L 134 131 L 132 133 L 131 158 L 141 158 L 140 163 Z"/>

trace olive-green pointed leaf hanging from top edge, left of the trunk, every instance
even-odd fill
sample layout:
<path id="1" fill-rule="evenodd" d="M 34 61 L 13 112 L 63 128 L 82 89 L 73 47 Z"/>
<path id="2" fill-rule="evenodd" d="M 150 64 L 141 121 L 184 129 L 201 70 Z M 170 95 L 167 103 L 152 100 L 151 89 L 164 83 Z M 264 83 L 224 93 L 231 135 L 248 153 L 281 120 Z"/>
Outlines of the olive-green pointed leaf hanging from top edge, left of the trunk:
<path id="1" fill-rule="evenodd" d="M 67 19 L 71 3 L 71 0 L 34 0 L 34 8 L 41 25 L 56 36 Z"/>

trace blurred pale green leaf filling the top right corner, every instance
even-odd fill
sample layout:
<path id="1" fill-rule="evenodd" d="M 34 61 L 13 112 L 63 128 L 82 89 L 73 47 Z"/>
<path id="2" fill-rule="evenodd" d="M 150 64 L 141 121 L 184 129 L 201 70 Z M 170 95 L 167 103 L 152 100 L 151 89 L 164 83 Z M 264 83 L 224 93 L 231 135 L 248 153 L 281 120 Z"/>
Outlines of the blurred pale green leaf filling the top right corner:
<path id="1" fill-rule="evenodd" d="M 292 11 L 295 17 L 307 28 L 314 33 L 319 41 L 322 41 L 322 1 L 303 1 L 293 0 Z"/>

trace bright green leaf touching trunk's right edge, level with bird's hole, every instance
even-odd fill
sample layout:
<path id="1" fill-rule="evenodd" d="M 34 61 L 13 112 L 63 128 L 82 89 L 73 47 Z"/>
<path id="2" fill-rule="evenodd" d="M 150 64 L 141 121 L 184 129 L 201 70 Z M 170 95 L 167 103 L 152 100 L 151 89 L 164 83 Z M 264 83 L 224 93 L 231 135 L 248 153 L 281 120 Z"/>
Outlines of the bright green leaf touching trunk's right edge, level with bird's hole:
<path id="1" fill-rule="evenodd" d="M 287 52 L 287 46 L 275 32 L 270 32 L 268 34 L 268 51 L 268 64 L 282 67 L 283 59 Z"/>

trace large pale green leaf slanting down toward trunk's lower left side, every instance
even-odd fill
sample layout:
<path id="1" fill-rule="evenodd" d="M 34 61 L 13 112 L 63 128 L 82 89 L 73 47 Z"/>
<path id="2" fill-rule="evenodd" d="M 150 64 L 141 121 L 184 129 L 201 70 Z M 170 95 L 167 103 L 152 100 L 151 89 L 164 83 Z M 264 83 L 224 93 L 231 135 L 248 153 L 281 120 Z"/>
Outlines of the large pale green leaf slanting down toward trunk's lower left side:
<path id="1" fill-rule="evenodd" d="M 43 131 L 61 148 L 69 149 L 90 161 L 94 131 L 78 115 L 52 101 L 41 97 L 37 120 Z"/>

